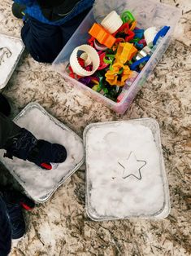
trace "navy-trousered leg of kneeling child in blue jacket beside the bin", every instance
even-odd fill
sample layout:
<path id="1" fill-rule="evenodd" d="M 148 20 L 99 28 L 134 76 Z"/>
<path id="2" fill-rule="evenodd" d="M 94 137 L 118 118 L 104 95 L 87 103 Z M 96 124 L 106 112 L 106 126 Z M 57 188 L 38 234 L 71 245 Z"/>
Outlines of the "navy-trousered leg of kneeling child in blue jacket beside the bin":
<path id="1" fill-rule="evenodd" d="M 63 48 L 58 26 L 44 24 L 28 17 L 21 30 L 21 38 L 29 53 L 38 62 L 52 63 Z"/>

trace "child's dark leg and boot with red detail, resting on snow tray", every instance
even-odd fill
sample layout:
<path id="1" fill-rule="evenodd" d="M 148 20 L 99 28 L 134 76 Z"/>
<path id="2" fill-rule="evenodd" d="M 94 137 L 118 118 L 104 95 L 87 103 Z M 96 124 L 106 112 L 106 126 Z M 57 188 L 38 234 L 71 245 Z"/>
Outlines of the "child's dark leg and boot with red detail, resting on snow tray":
<path id="1" fill-rule="evenodd" d="M 42 169 L 51 169 L 51 162 L 61 163 L 67 158 L 67 151 L 62 145 L 37 139 L 31 132 L 20 128 L 2 113 L 0 113 L 0 148 L 7 150 L 4 157 L 18 157 L 32 161 Z"/>

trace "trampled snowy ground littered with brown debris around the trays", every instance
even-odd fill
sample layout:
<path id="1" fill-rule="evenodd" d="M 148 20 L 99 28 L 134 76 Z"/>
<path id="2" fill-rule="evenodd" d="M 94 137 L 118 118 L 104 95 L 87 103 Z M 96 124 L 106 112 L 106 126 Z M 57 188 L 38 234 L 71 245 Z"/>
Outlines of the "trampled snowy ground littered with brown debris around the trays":
<path id="1" fill-rule="evenodd" d="M 157 119 L 170 185 L 171 214 L 163 221 L 95 223 L 85 213 L 85 170 L 81 169 L 54 193 L 50 201 L 26 214 L 27 234 L 14 244 L 11 256 L 191 255 L 191 2 L 161 2 L 181 8 L 183 15 L 163 60 L 124 116 L 71 88 L 50 65 L 38 64 L 27 53 L 3 93 L 10 99 L 12 117 L 29 102 L 37 101 L 80 136 L 91 122 L 139 117 Z M 1 32 L 19 37 L 21 26 L 22 22 L 11 15 L 11 0 L 2 1 Z M 2 180 L 10 182 L 5 173 L 2 170 Z"/>

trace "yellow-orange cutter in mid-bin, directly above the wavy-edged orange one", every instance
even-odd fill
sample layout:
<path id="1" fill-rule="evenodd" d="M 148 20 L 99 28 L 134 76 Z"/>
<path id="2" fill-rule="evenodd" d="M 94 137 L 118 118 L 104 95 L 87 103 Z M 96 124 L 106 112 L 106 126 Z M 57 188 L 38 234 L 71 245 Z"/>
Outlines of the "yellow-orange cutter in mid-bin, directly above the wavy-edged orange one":
<path id="1" fill-rule="evenodd" d="M 132 60 L 132 57 L 137 54 L 137 48 L 129 42 L 119 42 L 117 53 L 115 55 L 115 62 L 125 64 L 128 60 Z"/>

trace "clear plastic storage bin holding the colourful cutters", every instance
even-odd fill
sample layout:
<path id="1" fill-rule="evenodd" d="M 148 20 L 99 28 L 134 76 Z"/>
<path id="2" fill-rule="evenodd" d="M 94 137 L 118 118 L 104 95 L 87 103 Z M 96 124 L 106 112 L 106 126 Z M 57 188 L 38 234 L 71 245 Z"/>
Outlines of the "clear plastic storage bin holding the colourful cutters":
<path id="1" fill-rule="evenodd" d="M 132 83 L 132 86 L 130 86 L 121 102 L 115 103 L 111 99 L 107 99 L 105 96 L 93 91 L 88 86 L 85 86 L 72 77 L 69 77 L 65 70 L 74 48 L 87 43 L 87 39 L 89 38 L 88 31 L 95 22 L 93 11 L 90 11 L 85 17 L 85 20 L 80 24 L 79 28 L 76 29 L 72 38 L 63 47 L 63 50 L 59 53 L 53 63 L 54 69 L 56 69 L 68 82 L 70 82 L 72 86 L 78 86 L 80 89 L 85 90 L 85 94 L 92 96 L 102 104 L 105 104 L 108 108 L 111 108 L 115 112 L 121 114 L 123 114 L 132 103 L 132 99 L 135 98 L 137 92 L 141 89 L 141 86 L 143 86 L 145 80 L 149 77 L 150 73 L 158 63 L 158 60 L 161 59 L 163 53 L 167 50 L 171 34 L 180 18 L 180 10 L 160 2 L 128 0 L 124 10 L 132 11 L 132 14 L 137 20 L 137 27 L 140 27 L 141 29 L 148 29 L 150 26 L 163 27 L 165 25 L 170 26 L 171 29 L 169 29 L 163 40 L 159 42 L 156 51 L 154 51 L 154 54 L 142 69 L 137 79 Z M 108 10 L 108 13 L 110 11 L 111 10 Z M 118 11 L 117 6 L 115 11 Z"/>

